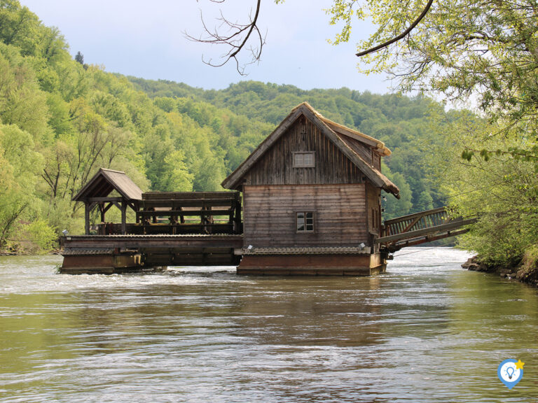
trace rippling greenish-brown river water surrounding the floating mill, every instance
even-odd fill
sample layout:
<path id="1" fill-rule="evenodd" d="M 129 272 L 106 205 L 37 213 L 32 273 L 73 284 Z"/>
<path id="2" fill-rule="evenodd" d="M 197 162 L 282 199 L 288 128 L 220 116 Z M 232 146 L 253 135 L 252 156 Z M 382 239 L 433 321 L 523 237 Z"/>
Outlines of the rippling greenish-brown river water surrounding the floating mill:
<path id="1" fill-rule="evenodd" d="M 371 278 L 0 257 L 0 401 L 538 402 L 538 290 L 467 257 L 408 248 Z"/>

